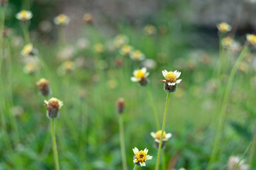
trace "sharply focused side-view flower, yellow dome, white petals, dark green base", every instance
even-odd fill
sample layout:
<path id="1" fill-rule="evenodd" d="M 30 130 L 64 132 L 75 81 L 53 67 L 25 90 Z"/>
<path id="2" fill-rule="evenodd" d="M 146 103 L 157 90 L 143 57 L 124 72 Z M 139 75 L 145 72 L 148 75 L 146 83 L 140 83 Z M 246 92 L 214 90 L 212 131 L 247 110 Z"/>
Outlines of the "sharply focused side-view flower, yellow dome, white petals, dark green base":
<path id="1" fill-rule="evenodd" d="M 165 77 L 165 80 L 161 81 L 165 82 L 165 91 L 170 93 L 177 90 L 177 84 L 182 81 L 182 79 L 178 79 L 180 74 L 181 72 L 177 72 L 177 70 L 174 72 L 167 72 L 167 70 L 162 70 L 162 75 Z"/>

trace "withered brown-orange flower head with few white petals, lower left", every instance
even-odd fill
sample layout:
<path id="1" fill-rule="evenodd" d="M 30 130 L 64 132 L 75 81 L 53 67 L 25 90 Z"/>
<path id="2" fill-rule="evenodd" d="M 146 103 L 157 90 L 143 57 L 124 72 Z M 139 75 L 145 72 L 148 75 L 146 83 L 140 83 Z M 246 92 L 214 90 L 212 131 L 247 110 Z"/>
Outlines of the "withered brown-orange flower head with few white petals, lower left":
<path id="1" fill-rule="evenodd" d="M 63 106 L 63 103 L 57 98 L 50 98 L 49 101 L 45 100 L 45 106 L 47 107 L 46 115 L 48 118 L 55 119 L 59 116 L 59 111 Z"/>

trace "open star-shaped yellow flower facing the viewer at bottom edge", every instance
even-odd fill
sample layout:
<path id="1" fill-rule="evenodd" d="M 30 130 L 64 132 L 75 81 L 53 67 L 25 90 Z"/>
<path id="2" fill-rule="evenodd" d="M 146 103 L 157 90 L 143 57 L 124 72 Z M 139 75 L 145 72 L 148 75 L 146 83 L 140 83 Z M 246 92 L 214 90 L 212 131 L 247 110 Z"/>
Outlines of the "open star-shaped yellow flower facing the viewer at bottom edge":
<path id="1" fill-rule="evenodd" d="M 152 159 L 152 156 L 148 155 L 147 148 L 139 151 L 139 149 L 135 147 L 133 149 L 133 153 L 135 154 L 133 158 L 133 163 L 137 164 L 138 166 L 146 166 L 145 162 L 149 159 Z"/>

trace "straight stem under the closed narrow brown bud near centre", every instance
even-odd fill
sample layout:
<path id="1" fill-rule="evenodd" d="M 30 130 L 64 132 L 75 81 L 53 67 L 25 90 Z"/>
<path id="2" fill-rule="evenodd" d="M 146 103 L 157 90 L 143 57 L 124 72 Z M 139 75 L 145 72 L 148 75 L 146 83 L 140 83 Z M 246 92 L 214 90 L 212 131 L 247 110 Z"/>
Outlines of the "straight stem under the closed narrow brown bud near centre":
<path id="1" fill-rule="evenodd" d="M 119 137 L 120 137 L 120 147 L 121 147 L 121 154 L 122 154 L 123 170 L 127 170 L 126 145 L 124 142 L 124 135 L 123 135 L 123 117 L 122 117 L 122 115 L 119 115 Z"/>

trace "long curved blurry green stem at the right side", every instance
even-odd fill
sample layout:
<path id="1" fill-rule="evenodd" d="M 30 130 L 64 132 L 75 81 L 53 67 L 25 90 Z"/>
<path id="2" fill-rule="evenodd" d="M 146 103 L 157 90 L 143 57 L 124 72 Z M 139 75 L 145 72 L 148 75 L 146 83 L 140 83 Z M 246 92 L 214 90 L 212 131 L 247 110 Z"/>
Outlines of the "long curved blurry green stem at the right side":
<path id="1" fill-rule="evenodd" d="M 217 125 L 217 132 L 216 132 L 216 137 L 213 143 L 213 150 L 211 152 L 211 157 L 210 157 L 210 161 L 209 164 L 207 166 L 207 170 L 211 169 L 211 164 L 213 164 L 213 162 L 216 161 L 216 157 L 218 154 L 218 148 L 220 145 L 220 141 L 221 141 L 221 132 L 223 131 L 223 124 L 225 122 L 225 115 L 226 115 L 226 108 L 228 106 L 228 96 L 230 94 L 230 89 L 233 83 L 233 79 L 235 78 L 235 73 L 238 69 L 238 66 L 240 64 L 240 62 L 243 60 L 243 58 L 245 57 L 245 54 L 247 53 L 248 47 L 245 46 L 243 51 L 240 53 L 238 59 L 235 61 L 235 64 L 230 72 L 230 76 L 228 77 L 228 83 L 226 86 L 226 91 L 223 97 L 223 101 L 222 101 L 222 106 L 221 106 L 221 111 L 220 111 L 220 117 L 218 119 L 218 125 Z"/>

